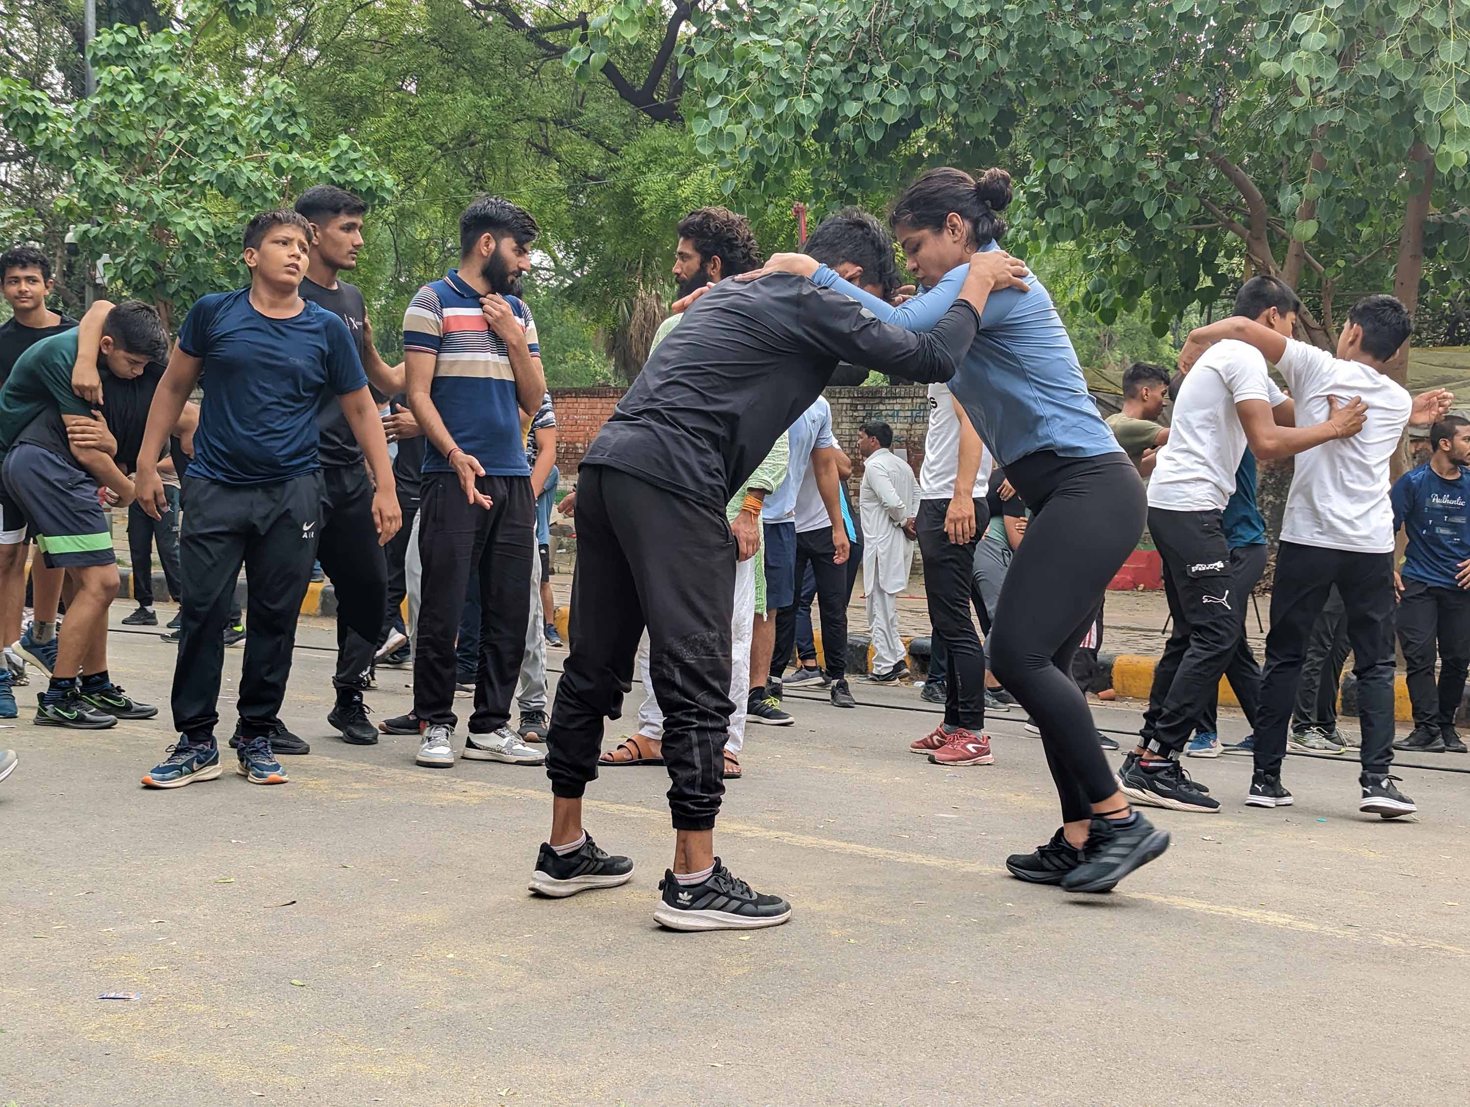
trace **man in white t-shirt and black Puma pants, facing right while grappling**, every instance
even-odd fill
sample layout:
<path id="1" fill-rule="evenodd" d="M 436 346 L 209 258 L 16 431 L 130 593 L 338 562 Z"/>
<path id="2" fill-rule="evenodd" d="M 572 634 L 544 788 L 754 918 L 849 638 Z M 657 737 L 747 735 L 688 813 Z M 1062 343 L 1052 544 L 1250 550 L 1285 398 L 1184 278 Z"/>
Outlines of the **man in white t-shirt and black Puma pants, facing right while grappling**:
<path id="1" fill-rule="evenodd" d="M 1254 319 L 1280 335 L 1292 332 L 1299 307 L 1297 294 L 1274 276 L 1251 278 L 1235 297 L 1236 319 Z M 1272 460 L 1363 426 L 1360 401 L 1327 404 L 1324 422 L 1295 426 L 1292 400 L 1267 375 L 1261 351 L 1242 341 L 1210 347 L 1179 387 L 1169 441 L 1148 484 L 1148 532 L 1164 563 L 1173 634 L 1154 670 L 1138 747 L 1119 773 L 1123 791 L 1138 803 L 1180 812 L 1220 809 L 1185 775 L 1179 756 L 1226 672 L 1245 717 L 1255 723 L 1260 670 L 1238 648 L 1245 613 L 1239 597 L 1230 597 L 1225 506 L 1247 443 L 1257 457 Z"/>

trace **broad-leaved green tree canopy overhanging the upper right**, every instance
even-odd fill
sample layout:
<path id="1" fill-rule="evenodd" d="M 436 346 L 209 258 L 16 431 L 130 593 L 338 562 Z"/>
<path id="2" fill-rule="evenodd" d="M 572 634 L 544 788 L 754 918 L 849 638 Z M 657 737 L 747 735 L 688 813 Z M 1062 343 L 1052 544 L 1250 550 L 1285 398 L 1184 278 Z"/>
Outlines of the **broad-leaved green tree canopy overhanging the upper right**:
<path id="1" fill-rule="evenodd" d="M 1244 259 L 1327 344 L 1342 294 L 1466 275 L 1467 43 L 1470 0 L 748 0 L 701 25 L 692 128 L 766 187 L 1004 150 L 1104 320 L 1163 334 Z"/>

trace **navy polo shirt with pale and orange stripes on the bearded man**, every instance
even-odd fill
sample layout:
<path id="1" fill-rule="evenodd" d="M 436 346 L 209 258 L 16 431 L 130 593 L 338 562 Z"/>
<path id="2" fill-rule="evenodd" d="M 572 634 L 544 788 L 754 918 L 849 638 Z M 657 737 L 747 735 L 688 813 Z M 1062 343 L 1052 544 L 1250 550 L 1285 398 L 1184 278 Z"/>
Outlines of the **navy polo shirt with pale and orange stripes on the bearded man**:
<path id="1" fill-rule="evenodd" d="M 434 354 L 429 398 L 454 444 L 479 462 L 488 476 L 529 476 L 510 350 L 490 329 L 479 300 L 479 291 L 457 269 L 423 285 L 403 313 L 403 348 Z M 539 357 L 531 309 L 514 295 L 506 301 L 526 329 L 531 356 Z M 428 443 L 423 472 L 450 470 L 450 463 Z"/>

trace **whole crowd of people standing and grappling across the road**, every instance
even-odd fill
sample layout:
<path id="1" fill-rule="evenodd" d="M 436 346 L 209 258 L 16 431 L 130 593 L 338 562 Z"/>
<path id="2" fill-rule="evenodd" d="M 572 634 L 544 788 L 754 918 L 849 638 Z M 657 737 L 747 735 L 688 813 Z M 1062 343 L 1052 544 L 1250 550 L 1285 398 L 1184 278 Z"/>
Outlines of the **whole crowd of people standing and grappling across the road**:
<path id="1" fill-rule="evenodd" d="M 7 251 L 0 632 L 16 647 L 0 669 L 0 716 L 18 714 L 22 654 L 49 676 L 38 725 L 159 713 L 107 670 L 119 572 L 104 509 L 129 507 L 138 607 L 123 623 L 157 625 L 153 544 L 179 601 L 176 738 L 144 787 L 222 775 L 222 669 L 240 637 L 235 770 L 251 784 L 288 781 L 281 759 L 310 748 L 279 713 L 319 562 L 337 597 L 328 723 L 344 742 L 416 735 L 415 762 L 428 769 L 460 757 L 544 764 L 551 828 L 531 888 L 553 898 L 632 878 L 632 860 L 587 832 L 582 798 L 603 767 L 663 766 L 675 848 L 654 917 L 681 931 L 772 926 L 791 906 L 714 853 L 745 728 L 791 725 L 788 684 L 820 684 L 835 707 L 857 707 L 848 604 L 858 566 L 867 679 L 910 678 L 897 597 L 917 545 L 933 628 L 923 695 L 944 713 L 910 748 L 936 764 L 989 764 L 986 712 L 1026 712 L 1061 825 L 1008 857 L 1019 879 L 1108 891 L 1170 844 L 1141 807 L 1219 810 L 1182 759 L 1222 751 L 1222 676 L 1252 726 L 1229 750 L 1255 762 L 1245 803 L 1289 804 L 1288 745 L 1348 745 L 1335 714 L 1324 717 L 1347 648 L 1363 722 L 1360 809 L 1413 812 L 1391 773 L 1394 634 L 1414 701 L 1404 748 L 1464 751 L 1454 716 L 1470 666 L 1470 422 L 1446 415 L 1448 393 L 1411 398 L 1385 373 L 1408 313 L 1367 297 L 1333 356 L 1292 338 L 1295 293 L 1254 276 L 1229 319 L 1191 332 L 1177 373 L 1133 366 L 1123 410 L 1104 422 L 1044 284 L 1000 248 L 1010 200 L 1004 171 L 932 169 L 886 223 L 844 209 L 801 253 L 770 257 L 723 207 L 679 222 L 679 300 L 560 504 L 578 559 L 554 701 L 556 415 L 522 297 L 538 237 L 529 212 L 495 197 L 465 210 L 459 265 L 404 313 L 401 365 L 379 356 L 363 294 L 341 276 L 363 247 L 366 204 L 332 185 L 248 222 L 248 287 L 193 304 L 172 351 L 141 303 L 56 315 L 47 257 Z M 901 284 L 895 241 L 916 288 Z M 822 395 L 845 363 L 925 382 L 929 401 L 919 473 L 888 423 L 860 428 L 856 504 L 853 460 Z M 1391 494 L 1389 462 L 1411 422 L 1430 426 L 1432 459 Z M 1283 457 L 1297 465 L 1263 669 L 1245 641 L 1267 548 L 1255 460 Z M 1105 588 L 1145 522 L 1173 632 L 1138 744 L 1114 770 L 1117 744 L 1095 726 L 1086 689 Z M 1302 681 L 1314 648 L 1317 676 Z M 375 725 L 365 694 L 379 664 L 412 664 L 413 706 Z M 637 732 L 604 750 L 635 673 Z M 457 695 L 472 697 L 463 732 Z M 15 764 L 0 756 L 0 778 Z"/>

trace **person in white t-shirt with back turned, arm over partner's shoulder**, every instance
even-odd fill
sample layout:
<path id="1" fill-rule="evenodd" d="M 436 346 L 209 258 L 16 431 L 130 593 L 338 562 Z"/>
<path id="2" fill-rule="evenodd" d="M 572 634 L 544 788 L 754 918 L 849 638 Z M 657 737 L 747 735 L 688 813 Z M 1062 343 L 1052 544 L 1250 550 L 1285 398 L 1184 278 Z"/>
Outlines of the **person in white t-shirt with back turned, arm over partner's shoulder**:
<path id="1" fill-rule="evenodd" d="M 1225 319 L 1189 335 L 1180 368 L 1222 340 L 1239 340 L 1276 363 L 1307 418 L 1333 416 L 1333 400 L 1367 404 L 1363 429 L 1297 459 L 1272 590 L 1272 629 L 1255 720 L 1255 776 L 1247 803 L 1292 801 L 1280 782 L 1286 725 L 1302 648 L 1332 585 L 1347 606 L 1352 672 L 1363 729 L 1363 794 L 1358 810 L 1392 819 L 1416 810 L 1394 787 L 1394 509 L 1389 460 L 1405 423 L 1429 425 L 1454 398 L 1442 388 L 1410 398 L 1383 369 L 1408 341 L 1410 316 L 1391 295 L 1354 304 L 1338 338 L 1338 356 L 1294 341 L 1248 319 Z M 1202 359 L 1200 359 L 1202 365 Z M 1198 368 L 1195 369 L 1198 372 Z M 1175 438 L 1177 432 L 1175 432 Z M 1170 438 L 1170 445 L 1175 438 Z M 1251 443 L 1255 448 L 1255 443 Z M 1257 450 L 1260 454 L 1260 450 Z M 1157 479 L 1157 478 L 1155 478 Z"/>

